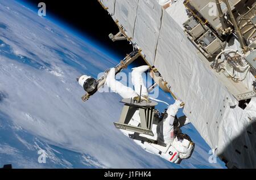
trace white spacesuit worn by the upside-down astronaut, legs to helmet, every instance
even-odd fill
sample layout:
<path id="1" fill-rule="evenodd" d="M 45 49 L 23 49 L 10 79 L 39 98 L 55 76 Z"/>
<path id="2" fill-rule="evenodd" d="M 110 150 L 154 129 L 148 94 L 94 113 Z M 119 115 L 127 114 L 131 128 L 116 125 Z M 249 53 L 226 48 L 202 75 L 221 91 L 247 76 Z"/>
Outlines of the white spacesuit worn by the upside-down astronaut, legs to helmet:
<path id="1" fill-rule="evenodd" d="M 115 80 L 115 70 L 112 68 L 109 71 L 108 77 L 106 78 L 106 85 L 115 93 L 118 93 L 122 98 L 134 98 L 137 97 L 141 91 L 142 96 L 148 96 L 148 91 L 143 83 L 142 73 L 148 70 L 148 66 L 140 66 L 133 68 L 131 73 L 132 82 L 134 85 L 134 90 L 130 87 L 126 87 L 122 83 Z M 179 162 L 182 158 L 188 158 L 191 156 L 193 151 L 193 143 L 187 139 L 175 137 L 174 133 L 174 120 L 175 115 L 178 111 L 181 101 L 176 100 L 176 102 L 167 109 L 167 117 L 160 121 L 158 125 L 152 127 L 152 132 L 154 133 L 153 139 L 161 141 L 167 144 L 166 149 L 160 147 L 160 145 L 151 144 L 148 142 L 141 142 L 140 140 L 134 139 L 134 142 L 141 145 L 143 149 L 147 152 L 154 153 L 155 155 L 161 156 L 170 162 Z M 138 126 L 140 123 L 139 112 L 133 115 L 130 121 L 130 125 Z M 130 132 L 126 130 L 121 130 L 123 134 L 129 136 Z M 148 135 L 143 135 L 146 138 Z"/>

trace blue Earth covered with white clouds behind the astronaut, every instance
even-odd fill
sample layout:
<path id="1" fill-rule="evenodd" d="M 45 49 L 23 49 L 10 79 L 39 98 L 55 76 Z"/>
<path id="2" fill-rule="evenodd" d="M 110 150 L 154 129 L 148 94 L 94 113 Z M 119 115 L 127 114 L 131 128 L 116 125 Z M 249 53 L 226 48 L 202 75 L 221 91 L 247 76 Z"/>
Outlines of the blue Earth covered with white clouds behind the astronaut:
<path id="1" fill-rule="evenodd" d="M 98 92 L 88 102 L 81 101 L 84 91 L 76 78 L 97 78 L 123 57 L 55 20 L 41 18 L 21 2 L 0 0 L 0 17 L 0 166 L 225 167 L 218 158 L 216 163 L 208 161 L 210 147 L 191 124 L 183 132 L 196 143 L 195 151 L 180 165 L 171 164 L 114 127 L 122 109 L 120 96 Z M 158 98 L 174 102 L 163 91 Z M 38 161 L 42 151 L 45 163 Z"/>

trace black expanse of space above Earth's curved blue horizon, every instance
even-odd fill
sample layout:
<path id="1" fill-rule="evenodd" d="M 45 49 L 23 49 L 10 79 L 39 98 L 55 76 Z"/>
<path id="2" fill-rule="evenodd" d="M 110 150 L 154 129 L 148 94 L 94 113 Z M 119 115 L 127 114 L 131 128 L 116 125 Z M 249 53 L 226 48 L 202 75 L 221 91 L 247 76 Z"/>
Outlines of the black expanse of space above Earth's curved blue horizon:
<path id="1" fill-rule="evenodd" d="M 109 33 L 117 33 L 118 27 L 97 0 L 22 0 L 22 2 L 29 3 L 35 8 L 38 8 L 39 2 L 46 3 L 47 16 L 65 23 L 84 36 L 89 36 L 121 57 L 125 57 L 133 50 L 127 41 L 112 42 L 109 39 Z"/>

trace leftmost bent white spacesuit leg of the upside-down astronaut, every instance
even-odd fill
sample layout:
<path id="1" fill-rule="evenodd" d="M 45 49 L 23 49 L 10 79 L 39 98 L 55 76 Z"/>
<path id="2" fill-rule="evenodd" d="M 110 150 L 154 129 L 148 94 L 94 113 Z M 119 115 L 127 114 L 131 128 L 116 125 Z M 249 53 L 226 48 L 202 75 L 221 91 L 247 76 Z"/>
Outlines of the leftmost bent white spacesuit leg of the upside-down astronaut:
<path id="1" fill-rule="evenodd" d="M 122 83 L 115 80 L 115 68 L 111 68 L 106 78 L 106 85 L 111 91 L 118 93 L 122 98 L 133 98 L 138 96 L 137 93 L 130 87 L 123 85 Z"/>

